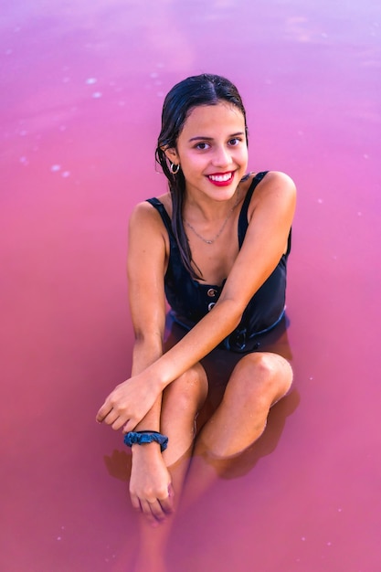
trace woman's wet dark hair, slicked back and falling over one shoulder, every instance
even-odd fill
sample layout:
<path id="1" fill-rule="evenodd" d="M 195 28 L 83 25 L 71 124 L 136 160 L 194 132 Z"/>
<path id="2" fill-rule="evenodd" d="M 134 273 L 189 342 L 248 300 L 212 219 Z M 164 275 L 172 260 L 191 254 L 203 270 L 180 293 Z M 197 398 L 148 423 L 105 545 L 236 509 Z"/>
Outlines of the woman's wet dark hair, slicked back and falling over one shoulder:
<path id="1" fill-rule="evenodd" d="M 186 270 L 196 279 L 201 279 L 201 277 L 197 275 L 192 267 L 192 254 L 183 224 L 185 177 L 181 168 L 176 175 L 171 172 L 170 164 L 164 151 L 165 149 L 176 148 L 177 138 L 182 132 L 185 121 L 192 110 L 200 105 L 217 105 L 221 101 L 227 101 L 241 111 L 245 120 L 246 138 L 248 139 L 246 111 L 236 86 L 226 78 L 204 73 L 180 81 L 165 97 L 162 112 L 162 130 L 157 140 L 155 152 L 155 159 L 161 165 L 163 173 L 168 179 L 173 203 L 172 228 L 180 249 L 181 258 Z"/>

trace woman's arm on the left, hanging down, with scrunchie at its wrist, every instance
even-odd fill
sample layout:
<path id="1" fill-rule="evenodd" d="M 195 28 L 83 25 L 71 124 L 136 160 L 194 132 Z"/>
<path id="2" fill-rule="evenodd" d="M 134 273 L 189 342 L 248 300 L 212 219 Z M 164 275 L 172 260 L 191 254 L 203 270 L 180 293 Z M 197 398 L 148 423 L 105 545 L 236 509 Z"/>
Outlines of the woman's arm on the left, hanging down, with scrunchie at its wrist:
<path id="1" fill-rule="evenodd" d="M 165 327 L 164 272 L 168 256 L 161 218 L 145 202 L 132 212 L 129 224 L 127 277 L 134 332 L 132 376 L 163 355 Z M 160 431 L 162 397 L 134 430 Z M 132 445 L 132 505 L 155 524 L 173 510 L 170 474 L 158 443 Z"/>

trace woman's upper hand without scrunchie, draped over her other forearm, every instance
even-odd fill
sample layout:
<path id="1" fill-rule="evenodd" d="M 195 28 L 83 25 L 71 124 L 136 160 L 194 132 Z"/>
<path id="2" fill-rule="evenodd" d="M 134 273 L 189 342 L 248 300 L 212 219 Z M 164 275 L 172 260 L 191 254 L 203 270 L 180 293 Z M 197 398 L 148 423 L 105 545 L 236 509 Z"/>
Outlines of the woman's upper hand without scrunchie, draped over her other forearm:
<path id="1" fill-rule="evenodd" d="M 134 376 L 115 387 L 97 413 L 97 421 L 104 421 L 112 429 L 132 431 L 153 407 L 161 390 L 151 379 Z"/>

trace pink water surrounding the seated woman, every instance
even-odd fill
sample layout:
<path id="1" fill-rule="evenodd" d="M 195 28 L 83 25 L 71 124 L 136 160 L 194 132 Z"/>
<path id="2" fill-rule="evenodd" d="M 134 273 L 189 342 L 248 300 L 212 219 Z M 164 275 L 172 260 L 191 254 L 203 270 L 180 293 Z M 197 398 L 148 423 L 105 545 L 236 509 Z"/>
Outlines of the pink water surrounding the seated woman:
<path id="1" fill-rule="evenodd" d="M 130 371 L 126 227 L 164 189 L 164 94 L 202 71 L 242 92 L 251 170 L 299 188 L 295 382 L 248 466 L 178 524 L 170 565 L 381 570 L 380 6 L 3 1 L 2 571 L 128 570 L 129 458 L 94 416 Z"/>

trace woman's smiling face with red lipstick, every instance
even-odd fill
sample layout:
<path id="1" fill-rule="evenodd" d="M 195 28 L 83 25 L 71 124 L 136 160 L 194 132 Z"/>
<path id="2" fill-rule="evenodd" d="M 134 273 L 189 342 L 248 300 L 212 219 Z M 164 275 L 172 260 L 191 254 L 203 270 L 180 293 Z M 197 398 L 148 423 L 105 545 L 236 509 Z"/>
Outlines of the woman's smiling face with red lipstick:
<path id="1" fill-rule="evenodd" d="M 228 200 L 248 166 L 242 112 L 227 102 L 196 107 L 185 121 L 177 148 L 166 154 L 181 165 L 188 196 Z"/>

